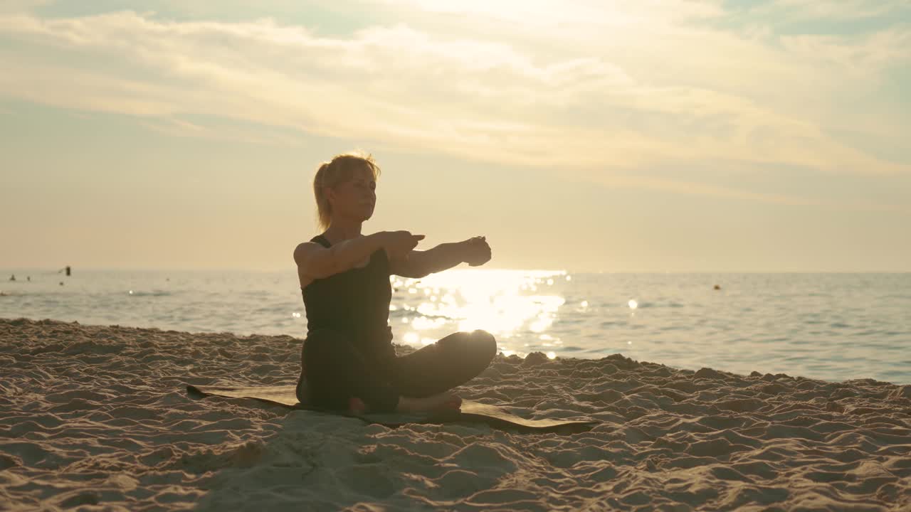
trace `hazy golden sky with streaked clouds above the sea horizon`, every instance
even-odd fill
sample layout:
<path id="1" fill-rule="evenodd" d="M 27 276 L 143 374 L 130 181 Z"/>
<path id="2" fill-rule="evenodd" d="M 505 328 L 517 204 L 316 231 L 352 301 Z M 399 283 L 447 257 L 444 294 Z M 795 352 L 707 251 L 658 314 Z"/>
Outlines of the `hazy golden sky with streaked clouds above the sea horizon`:
<path id="1" fill-rule="evenodd" d="M 911 0 L 4 0 L 0 268 L 293 271 L 312 177 L 494 268 L 911 271 Z"/>

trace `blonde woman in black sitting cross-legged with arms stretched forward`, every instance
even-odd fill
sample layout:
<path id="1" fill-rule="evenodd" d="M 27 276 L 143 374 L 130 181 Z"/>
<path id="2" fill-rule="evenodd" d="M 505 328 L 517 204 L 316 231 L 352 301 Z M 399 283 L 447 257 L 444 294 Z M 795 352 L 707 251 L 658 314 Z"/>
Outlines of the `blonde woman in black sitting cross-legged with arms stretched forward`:
<path id="1" fill-rule="evenodd" d="M 490 246 L 475 237 L 415 251 L 424 235 L 363 235 L 379 173 L 371 157 L 345 154 L 323 163 L 313 179 L 323 232 L 294 250 L 307 313 L 298 400 L 353 412 L 457 409 L 462 400 L 450 390 L 486 369 L 496 355 L 494 336 L 452 333 L 397 356 L 388 326 L 389 276 L 421 278 L 462 262 L 481 265 L 490 260 Z"/>

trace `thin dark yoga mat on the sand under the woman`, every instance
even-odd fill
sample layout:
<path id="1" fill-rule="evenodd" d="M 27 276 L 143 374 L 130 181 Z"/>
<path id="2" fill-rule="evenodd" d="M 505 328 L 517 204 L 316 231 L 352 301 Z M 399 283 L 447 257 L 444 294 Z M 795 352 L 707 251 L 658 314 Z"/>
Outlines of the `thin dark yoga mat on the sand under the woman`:
<path id="1" fill-rule="evenodd" d="M 279 404 L 292 409 L 319 411 L 327 414 L 346 415 L 360 418 L 364 422 L 390 427 L 409 423 L 446 424 L 446 423 L 483 423 L 495 428 L 515 429 L 528 432 L 571 433 L 588 430 L 599 422 L 594 420 L 560 420 L 553 418 L 527 419 L 514 415 L 497 405 L 481 404 L 473 400 L 463 400 L 460 411 L 449 411 L 427 415 L 419 414 L 371 414 L 352 415 L 341 411 L 323 411 L 297 401 L 293 385 L 275 386 L 220 386 L 187 384 L 187 394 L 191 397 L 222 396 L 227 398 L 251 398 L 270 404 Z"/>

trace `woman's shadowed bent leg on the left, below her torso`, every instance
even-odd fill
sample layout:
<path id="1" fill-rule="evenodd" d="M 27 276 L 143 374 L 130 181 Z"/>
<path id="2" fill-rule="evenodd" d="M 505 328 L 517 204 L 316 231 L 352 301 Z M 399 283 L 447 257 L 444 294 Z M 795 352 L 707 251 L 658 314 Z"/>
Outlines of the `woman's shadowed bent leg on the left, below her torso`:
<path id="1" fill-rule="evenodd" d="M 399 393 L 382 378 L 377 368 L 367 364 L 341 333 L 317 329 L 307 334 L 301 353 L 306 379 L 306 396 L 310 404 L 325 409 L 344 410 L 352 397 L 360 398 L 371 411 L 392 412 Z"/>

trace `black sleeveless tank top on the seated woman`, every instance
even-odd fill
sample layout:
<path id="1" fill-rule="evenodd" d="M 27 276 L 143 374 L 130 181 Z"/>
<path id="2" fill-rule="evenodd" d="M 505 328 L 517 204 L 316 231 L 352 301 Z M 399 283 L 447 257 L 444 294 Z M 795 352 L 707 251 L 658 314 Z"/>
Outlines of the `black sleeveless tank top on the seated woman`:
<path id="1" fill-rule="evenodd" d="M 311 239 L 330 247 L 322 235 Z M 314 279 L 301 288 L 307 313 L 307 332 L 330 328 L 349 336 L 363 355 L 374 360 L 395 357 L 389 302 L 389 260 L 383 249 L 374 251 L 366 266 Z"/>

